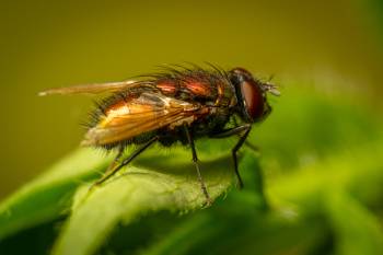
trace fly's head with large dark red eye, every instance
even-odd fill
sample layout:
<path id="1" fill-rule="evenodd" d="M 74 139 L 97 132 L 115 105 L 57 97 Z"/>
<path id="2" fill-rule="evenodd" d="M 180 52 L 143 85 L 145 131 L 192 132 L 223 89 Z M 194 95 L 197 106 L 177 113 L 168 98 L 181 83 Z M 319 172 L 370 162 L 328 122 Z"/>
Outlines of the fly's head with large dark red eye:
<path id="1" fill-rule="evenodd" d="M 252 73 L 243 68 L 229 71 L 229 78 L 236 92 L 237 114 L 245 123 L 260 121 L 270 114 L 267 92 L 279 95 L 276 85 L 253 78 Z"/>

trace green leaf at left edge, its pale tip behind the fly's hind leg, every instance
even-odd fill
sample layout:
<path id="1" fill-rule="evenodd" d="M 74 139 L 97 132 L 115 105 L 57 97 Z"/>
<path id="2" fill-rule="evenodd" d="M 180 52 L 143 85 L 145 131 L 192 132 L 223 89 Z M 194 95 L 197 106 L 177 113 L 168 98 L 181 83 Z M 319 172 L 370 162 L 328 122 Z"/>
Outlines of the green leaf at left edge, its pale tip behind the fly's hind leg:
<path id="1" fill-rule="evenodd" d="M 105 169 L 108 158 L 81 149 L 0 204 L 0 241 L 20 230 L 69 212 L 71 197 L 83 182 Z"/>

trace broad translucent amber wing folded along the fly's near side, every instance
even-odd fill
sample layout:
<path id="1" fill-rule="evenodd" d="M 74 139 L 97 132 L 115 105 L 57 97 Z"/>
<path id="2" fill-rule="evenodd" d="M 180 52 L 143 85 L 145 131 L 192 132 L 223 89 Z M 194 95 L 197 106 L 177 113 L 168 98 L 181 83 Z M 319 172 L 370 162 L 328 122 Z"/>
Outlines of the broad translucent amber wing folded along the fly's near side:
<path id="1" fill-rule="evenodd" d="M 143 92 L 109 106 L 96 126 L 89 129 L 83 146 L 103 146 L 128 140 L 165 126 L 174 128 L 207 113 L 199 104 Z"/>

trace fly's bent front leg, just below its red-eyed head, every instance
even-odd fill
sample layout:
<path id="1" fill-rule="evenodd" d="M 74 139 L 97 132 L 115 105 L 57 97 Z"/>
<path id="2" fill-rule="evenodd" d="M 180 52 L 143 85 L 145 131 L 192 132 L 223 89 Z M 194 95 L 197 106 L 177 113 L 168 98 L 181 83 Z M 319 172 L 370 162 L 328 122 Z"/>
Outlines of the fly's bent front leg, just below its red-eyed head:
<path id="1" fill-rule="evenodd" d="M 252 130 L 252 126 L 249 124 L 245 124 L 243 126 L 227 129 L 220 134 L 216 134 L 216 135 L 211 136 L 211 138 L 225 138 L 225 137 L 231 137 L 231 136 L 235 136 L 235 135 L 240 136 L 239 141 L 236 142 L 235 147 L 231 151 L 232 157 L 233 157 L 233 161 L 234 161 L 234 171 L 235 171 L 236 178 L 239 179 L 240 188 L 243 188 L 243 182 L 242 182 L 240 171 L 239 171 L 236 152 L 241 149 L 243 143 L 246 141 L 246 138 L 247 138 L 251 130 Z"/>

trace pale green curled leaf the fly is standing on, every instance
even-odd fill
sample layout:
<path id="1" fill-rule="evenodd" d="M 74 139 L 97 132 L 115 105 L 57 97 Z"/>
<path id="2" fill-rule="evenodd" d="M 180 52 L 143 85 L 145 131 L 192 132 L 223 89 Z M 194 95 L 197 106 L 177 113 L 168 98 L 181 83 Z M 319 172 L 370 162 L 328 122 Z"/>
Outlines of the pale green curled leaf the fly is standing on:
<path id="1" fill-rule="evenodd" d="M 166 158 L 154 161 L 158 154 L 153 150 L 146 153 L 139 161 L 140 167 L 128 166 L 91 194 L 88 185 L 80 188 L 54 254 L 93 254 L 119 222 L 128 224 L 152 211 L 200 208 L 206 198 L 194 165 L 185 161 L 190 152 L 176 150 L 172 155 L 174 160 L 166 162 Z M 201 161 L 204 179 L 212 199 L 232 184 L 233 171 L 228 167 L 232 165 L 231 160 L 229 155 L 218 155 Z M 155 170 L 151 167 L 153 162 L 160 162 L 155 163 Z"/>

